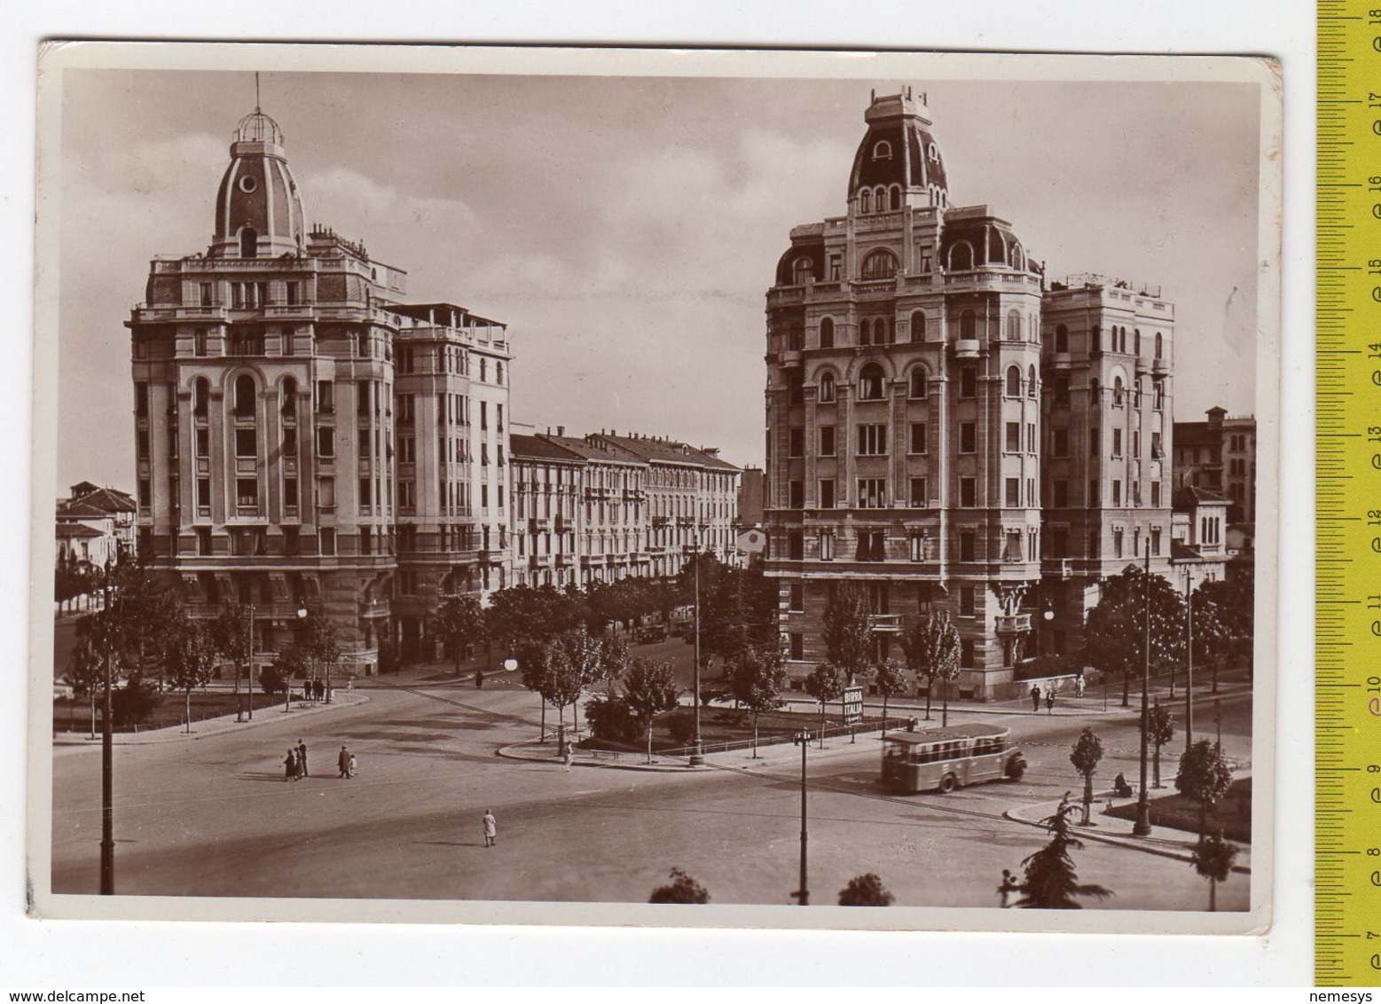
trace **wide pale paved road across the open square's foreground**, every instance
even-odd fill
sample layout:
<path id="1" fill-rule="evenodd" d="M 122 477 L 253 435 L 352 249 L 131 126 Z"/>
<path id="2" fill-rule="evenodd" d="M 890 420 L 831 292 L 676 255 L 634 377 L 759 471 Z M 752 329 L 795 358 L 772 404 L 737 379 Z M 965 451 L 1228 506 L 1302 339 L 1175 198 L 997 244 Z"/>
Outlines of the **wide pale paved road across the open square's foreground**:
<path id="1" fill-rule="evenodd" d="M 117 747 L 117 891 L 642 902 L 681 866 L 714 902 L 790 902 L 800 836 L 800 761 L 790 747 L 757 764 L 733 754 L 718 760 L 724 769 L 695 775 L 566 772 L 494 755 L 536 732 L 537 700 L 521 689 L 388 682 L 367 693 L 369 703 L 325 714 L 275 708 L 215 736 Z M 1244 703 L 1225 713 L 1225 744 L 1236 755 L 1248 747 L 1232 724 L 1240 725 Z M 1027 776 L 949 797 L 888 797 L 876 784 L 876 740 L 812 750 L 815 902 L 834 902 L 852 876 L 871 870 L 899 905 L 996 905 L 1001 869 L 1018 869 L 1044 840 L 1001 812 L 1077 787 L 1068 750 L 1084 724 L 1004 722 L 1027 749 Z M 1108 778 L 1132 776 L 1134 726 L 1126 715 L 1099 715 Z M 300 735 L 315 776 L 283 782 L 282 757 Z M 333 769 L 342 742 L 360 762 L 352 780 Z M 98 754 L 57 750 L 54 787 L 54 891 L 94 892 Z M 494 848 L 481 838 L 486 808 L 499 819 Z M 1207 903 L 1206 884 L 1181 860 L 1090 842 L 1076 863 L 1083 881 L 1117 892 L 1106 906 Z M 1246 877 L 1235 876 L 1218 899 L 1222 909 L 1246 906 Z"/>

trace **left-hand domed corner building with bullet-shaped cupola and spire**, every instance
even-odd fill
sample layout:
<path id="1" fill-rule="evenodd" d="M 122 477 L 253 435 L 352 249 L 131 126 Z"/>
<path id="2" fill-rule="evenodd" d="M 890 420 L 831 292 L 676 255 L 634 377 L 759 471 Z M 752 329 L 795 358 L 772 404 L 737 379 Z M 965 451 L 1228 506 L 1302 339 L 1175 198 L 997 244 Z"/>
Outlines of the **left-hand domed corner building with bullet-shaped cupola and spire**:
<path id="1" fill-rule="evenodd" d="M 409 304 L 406 272 L 309 228 L 260 109 L 235 130 L 211 235 L 151 262 L 127 322 L 139 555 L 192 616 L 253 604 L 260 663 L 305 604 L 347 670 L 435 652 L 445 595 L 508 584 L 505 326 Z"/>

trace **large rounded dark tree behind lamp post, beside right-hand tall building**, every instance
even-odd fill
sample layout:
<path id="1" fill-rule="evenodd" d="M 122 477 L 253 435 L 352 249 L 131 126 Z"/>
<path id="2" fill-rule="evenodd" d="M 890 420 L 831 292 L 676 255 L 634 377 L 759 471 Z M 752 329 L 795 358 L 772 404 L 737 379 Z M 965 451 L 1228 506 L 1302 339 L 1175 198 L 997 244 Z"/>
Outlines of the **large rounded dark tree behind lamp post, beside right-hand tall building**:
<path id="1" fill-rule="evenodd" d="M 1083 660 L 1102 673 L 1121 674 L 1123 707 L 1131 706 L 1131 679 L 1146 663 L 1150 615 L 1150 671 L 1167 673 L 1184 659 L 1185 601 L 1163 576 L 1137 565 L 1103 581 L 1098 606 L 1084 621 Z"/>

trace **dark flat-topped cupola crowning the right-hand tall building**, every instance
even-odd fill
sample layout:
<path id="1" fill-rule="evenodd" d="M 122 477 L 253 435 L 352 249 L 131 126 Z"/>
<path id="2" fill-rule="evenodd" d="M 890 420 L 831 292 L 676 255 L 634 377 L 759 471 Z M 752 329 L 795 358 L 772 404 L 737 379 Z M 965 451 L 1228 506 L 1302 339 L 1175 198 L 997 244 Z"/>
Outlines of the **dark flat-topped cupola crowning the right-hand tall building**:
<path id="1" fill-rule="evenodd" d="M 947 206 L 945 162 L 931 134 L 925 95 L 910 87 L 882 97 L 874 91 L 863 120 L 867 133 L 849 171 L 849 211 Z"/>

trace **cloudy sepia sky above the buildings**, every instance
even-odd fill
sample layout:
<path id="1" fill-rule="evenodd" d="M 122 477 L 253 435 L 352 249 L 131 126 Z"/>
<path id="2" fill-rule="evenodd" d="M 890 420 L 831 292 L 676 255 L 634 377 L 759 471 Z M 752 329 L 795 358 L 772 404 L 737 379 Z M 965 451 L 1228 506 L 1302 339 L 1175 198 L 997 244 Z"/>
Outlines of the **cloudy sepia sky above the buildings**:
<path id="1" fill-rule="evenodd" d="M 952 204 L 990 204 L 1052 278 L 1159 283 L 1177 304 L 1177 417 L 1254 410 L 1255 86 L 280 72 L 261 86 L 311 222 L 406 269 L 412 298 L 510 323 L 515 420 L 761 464 L 776 260 L 793 225 L 844 213 L 870 87 L 907 83 L 929 95 Z M 251 73 L 65 70 L 59 492 L 133 487 L 123 322 L 149 258 L 210 243 L 253 108 Z"/>

